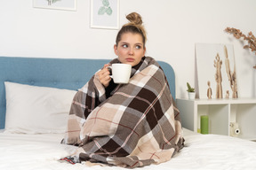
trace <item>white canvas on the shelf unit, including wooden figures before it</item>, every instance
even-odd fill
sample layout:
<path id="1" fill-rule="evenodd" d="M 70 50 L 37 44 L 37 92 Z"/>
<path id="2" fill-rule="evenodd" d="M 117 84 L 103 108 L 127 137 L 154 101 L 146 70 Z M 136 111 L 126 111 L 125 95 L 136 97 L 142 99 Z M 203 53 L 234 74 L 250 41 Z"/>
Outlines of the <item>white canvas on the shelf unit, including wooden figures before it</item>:
<path id="1" fill-rule="evenodd" d="M 238 98 L 232 44 L 196 43 L 200 98 Z"/>

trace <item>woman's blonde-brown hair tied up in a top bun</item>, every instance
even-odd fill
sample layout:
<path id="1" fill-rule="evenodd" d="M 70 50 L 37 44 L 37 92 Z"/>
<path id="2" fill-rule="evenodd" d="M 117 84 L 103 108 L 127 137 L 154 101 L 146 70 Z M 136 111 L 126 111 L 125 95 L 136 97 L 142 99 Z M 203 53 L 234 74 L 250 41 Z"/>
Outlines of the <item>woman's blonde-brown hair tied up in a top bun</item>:
<path id="1" fill-rule="evenodd" d="M 143 46 L 145 47 L 145 43 L 147 41 L 147 35 L 146 35 L 146 30 L 142 25 L 143 22 L 140 14 L 136 12 L 132 12 L 126 16 L 126 19 L 128 19 L 130 22 L 128 22 L 127 24 L 124 24 L 124 26 L 119 30 L 118 34 L 116 35 L 116 45 L 118 45 L 118 42 L 121 41 L 121 37 L 123 34 L 133 33 L 133 34 L 139 34 L 142 36 Z"/>

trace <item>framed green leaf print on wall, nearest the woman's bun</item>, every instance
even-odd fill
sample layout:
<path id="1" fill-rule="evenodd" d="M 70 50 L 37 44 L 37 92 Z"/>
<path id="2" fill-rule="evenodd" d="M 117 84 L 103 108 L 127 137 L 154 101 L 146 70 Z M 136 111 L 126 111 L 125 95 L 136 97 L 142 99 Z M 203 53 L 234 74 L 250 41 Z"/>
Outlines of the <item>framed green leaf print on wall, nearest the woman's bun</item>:
<path id="1" fill-rule="evenodd" d="M 119 0 L 91 0 L 92 28 L 119 28 Z"/>

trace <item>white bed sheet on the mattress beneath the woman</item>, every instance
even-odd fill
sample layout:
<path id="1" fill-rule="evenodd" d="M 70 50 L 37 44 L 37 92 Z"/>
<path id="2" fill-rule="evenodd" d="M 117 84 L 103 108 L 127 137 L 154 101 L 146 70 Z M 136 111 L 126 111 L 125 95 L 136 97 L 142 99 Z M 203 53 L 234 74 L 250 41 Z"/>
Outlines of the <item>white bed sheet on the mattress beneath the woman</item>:
<path id="1" fill-rule="evenodd" d="M 0 133 L 1 170 L 124 169 L 60 163 L 76 147 L 60 144 L 61 134 L 18 135 Z M 135 169 L 256 169 L 256 143 L 225 135 L 200 135 L 184 129 L 185 147 L 170 161 Z"/>

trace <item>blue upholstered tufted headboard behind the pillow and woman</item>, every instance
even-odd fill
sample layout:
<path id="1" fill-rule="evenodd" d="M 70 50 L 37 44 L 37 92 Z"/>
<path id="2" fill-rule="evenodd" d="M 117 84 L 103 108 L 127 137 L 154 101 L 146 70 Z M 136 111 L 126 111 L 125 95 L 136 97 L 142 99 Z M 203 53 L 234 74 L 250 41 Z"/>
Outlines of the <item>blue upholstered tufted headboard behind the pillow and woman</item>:
<path id="1" fill-rule="evenodd" d="M 89 81 L 108 59 L 78 58 L 11 58 L 0 57 L 0 128 L 5 121 L 4 81 L 59 89 L 79 89 Z M 172 66 L 159 61 L 175 98 L 175 76 Z"/>

